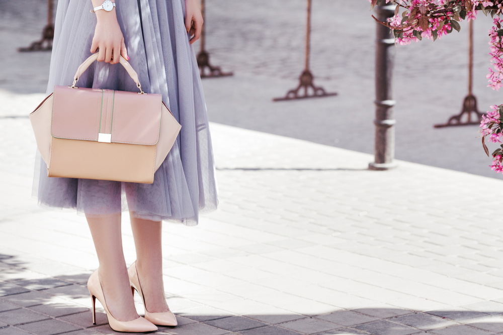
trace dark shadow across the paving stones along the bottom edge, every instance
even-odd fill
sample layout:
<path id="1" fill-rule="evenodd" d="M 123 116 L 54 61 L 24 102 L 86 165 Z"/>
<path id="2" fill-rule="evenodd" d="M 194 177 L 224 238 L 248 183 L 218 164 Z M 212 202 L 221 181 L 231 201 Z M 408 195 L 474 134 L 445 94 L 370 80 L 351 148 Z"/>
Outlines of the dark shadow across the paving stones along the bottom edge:
<path id="1" fill-rule="evenodd" d="M 57 277 L 39 274 L 37 277 L 26 266 L 15 256 L 0 254 L 0 335 L 24 334 L 25 331 L 41 335 L 114 333 L 103 312 L 97 312 L 97 325 L 92 324 L 91 301 L 86 287 L 90 273 Z M 503 331 L 503 309 L 496 307 L 483 311 L 451 308 L 422 312 L 378 307 L 337 310 L 334 306 L 333 312 L 322 315 L 260 312 L 234 315 L 198 304 L 199 307 L 177 311 L 177 305 L 187 301 L 177 296 L 168 298 L 179 325 L 159 327 L 157 333 L 407 335 L 428 332 L 442 335 Z"/>

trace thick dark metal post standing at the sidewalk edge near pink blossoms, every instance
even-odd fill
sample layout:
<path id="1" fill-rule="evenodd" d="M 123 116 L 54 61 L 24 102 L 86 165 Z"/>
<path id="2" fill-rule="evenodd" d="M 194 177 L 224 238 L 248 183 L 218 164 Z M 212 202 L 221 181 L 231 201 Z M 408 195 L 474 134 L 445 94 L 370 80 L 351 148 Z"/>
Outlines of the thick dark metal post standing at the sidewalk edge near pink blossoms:
<path id="1" fill-rule="evenodd" d="M 379 21 L 386 21 L 395 12 L 395 5 L 376 6 Z M 393 119 L 392 78 L 395 59 L 395 39 L 391 29 L 377 24 L 376 30 L 376 119 L 374 155 L 370 170 L 388 170 L 397 166 L 395 158 L 395 123 Z"/>

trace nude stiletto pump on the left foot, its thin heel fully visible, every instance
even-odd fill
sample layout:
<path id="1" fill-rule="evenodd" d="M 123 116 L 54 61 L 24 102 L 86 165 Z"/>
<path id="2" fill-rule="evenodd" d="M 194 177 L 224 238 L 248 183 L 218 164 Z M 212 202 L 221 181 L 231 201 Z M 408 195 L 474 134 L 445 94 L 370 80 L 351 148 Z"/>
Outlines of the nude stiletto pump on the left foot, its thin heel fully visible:
<path id="1" fill-rule="evenodd" d="M 98 299 L 107 313 L 110 327 L 115 331 L 145 332 L 157 330 L 157 327 L 152 324 L 152 322 L 145 320 L 141 316 L 131 321 L 119 321 L 110 313 L 107 307 L 107 301 L 105 300 L 105 295 L 103 294 L 103 288 L 98 277 L 98 270 L 93 272 L 91 277 L 89 277 L 88 290 L 93 300 L 93 324 L 96 324 L 96 299 Z"/>

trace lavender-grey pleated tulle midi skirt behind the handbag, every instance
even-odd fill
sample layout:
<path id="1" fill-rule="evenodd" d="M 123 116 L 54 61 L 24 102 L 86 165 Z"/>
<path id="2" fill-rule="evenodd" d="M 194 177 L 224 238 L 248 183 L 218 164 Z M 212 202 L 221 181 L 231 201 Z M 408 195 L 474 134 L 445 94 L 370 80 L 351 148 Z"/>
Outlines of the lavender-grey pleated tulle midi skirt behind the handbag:
<path id="1" fill-rule="evenodd" d="M 47 94 L 54 85 L 71 84 L 78 65 L 91 55 L 96 26 L 91 9 L 91 1 L 59 0 Z M 199 212 L 216 209 L 218 200 L 206 104 L 185 29 L 184 0 L 120 1 L 116 12 L 129 63 L 143 90 L 162 95 L 182 125 L 180 135 L 153 184 L 49 178 L 37 154 L 33 193 L 42 206 L 73 208 L 87 216 L 130 210 L 144 219 L 197 225 Z M 120 64 L 104 62 L 91 65 L 78 86 L 137 91 Z"/>

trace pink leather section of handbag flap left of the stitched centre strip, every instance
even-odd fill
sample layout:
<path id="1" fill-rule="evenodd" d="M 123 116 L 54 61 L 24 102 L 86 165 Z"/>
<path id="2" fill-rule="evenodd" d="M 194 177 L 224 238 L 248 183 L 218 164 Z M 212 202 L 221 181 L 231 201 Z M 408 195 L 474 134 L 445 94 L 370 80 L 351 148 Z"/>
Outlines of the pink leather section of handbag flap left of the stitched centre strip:
<path id="1" fill-rule="evenodd" d="M 101 89 L 54 86 L 52 136 L 98 141 L 101 102 Z"/>

